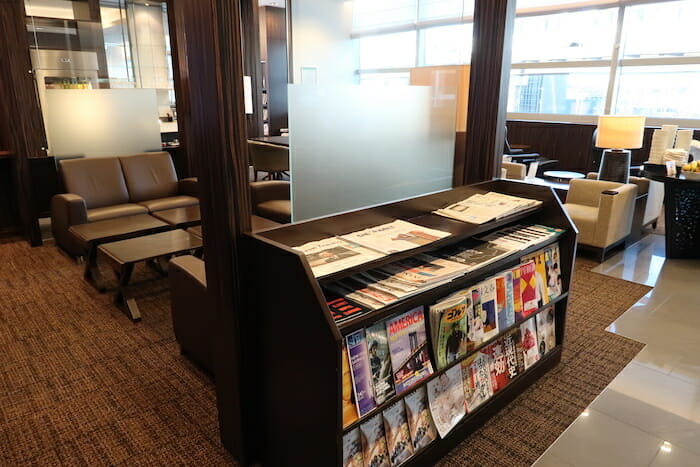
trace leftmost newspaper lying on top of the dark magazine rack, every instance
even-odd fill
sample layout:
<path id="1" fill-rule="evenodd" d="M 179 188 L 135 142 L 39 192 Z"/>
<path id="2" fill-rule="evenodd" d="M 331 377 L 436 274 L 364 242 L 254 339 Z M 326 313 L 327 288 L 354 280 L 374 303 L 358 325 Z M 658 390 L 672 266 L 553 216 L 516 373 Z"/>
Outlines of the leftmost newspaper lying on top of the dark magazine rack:
<path id="1" fill-rule="evenodd" d="M 294 249 L 304 253 L 316 277 L 342 271 L 384 256 L 337 237 L 305 243 Z"/>

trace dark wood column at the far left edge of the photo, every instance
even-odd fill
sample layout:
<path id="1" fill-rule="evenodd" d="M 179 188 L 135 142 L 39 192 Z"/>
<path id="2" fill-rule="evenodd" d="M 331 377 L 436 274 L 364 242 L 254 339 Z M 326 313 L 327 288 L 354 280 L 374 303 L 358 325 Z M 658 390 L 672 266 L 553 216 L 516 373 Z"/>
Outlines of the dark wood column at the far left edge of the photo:
<path id="1" fill-rule="evenodd" d="M 28 159 L 46 157 L 46 137 L 31 73 L 24 0 L 0 0 L 0 150 L 12 153 L 14 203 L 22 232 L 41 245 Z"/>

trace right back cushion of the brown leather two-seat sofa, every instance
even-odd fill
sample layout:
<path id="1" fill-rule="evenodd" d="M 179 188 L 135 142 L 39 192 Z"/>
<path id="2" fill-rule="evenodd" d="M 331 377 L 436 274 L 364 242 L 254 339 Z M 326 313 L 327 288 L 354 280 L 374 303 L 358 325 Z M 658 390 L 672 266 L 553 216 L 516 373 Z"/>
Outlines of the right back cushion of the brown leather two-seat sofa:
<path id="1" fill-rule="evenodd" d="M 175 166 L 167 152 L 120 157 L 132 203 L 177 195 Z"/>

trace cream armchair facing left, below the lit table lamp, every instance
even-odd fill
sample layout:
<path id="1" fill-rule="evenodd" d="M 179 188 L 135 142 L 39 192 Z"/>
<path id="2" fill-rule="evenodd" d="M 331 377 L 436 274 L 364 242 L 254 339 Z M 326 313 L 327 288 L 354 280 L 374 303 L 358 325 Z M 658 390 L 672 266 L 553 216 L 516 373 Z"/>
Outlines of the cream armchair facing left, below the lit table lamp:
<path id="1" fill-rule="evenodd" d="M 624 242 L 632 229 L 637 185 L 572 180 L 564 208 L 579 230 L 578 242 L 600 254 Z"/>

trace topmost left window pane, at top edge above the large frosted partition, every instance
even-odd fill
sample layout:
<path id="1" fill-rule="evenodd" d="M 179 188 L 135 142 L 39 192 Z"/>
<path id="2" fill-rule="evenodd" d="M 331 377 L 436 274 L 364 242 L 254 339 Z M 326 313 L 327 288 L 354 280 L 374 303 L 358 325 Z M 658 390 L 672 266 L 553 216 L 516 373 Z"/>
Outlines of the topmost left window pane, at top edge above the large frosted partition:
<path id="1" fill-rule="evenodd" d="M 416 21 L 417 0 L 355 0 L 352 2 L 354 32 Z"/>

